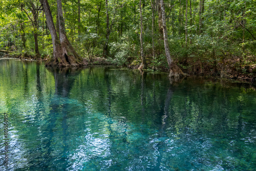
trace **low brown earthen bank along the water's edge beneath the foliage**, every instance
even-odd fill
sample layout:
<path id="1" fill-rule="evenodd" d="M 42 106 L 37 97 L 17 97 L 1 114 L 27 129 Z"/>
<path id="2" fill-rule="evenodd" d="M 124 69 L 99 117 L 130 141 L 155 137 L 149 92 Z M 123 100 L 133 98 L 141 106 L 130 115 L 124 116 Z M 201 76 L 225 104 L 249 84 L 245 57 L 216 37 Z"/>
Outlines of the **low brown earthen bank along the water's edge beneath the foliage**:
<path id="1" fill-rule="evenodd" d="M 20 60 L 35 60 L 35 61 L 47 61 L 50 56 L 45 55 L 40 58 L 35 58 L 33 55 L 28 54 L 15 54 L 10 55 L 6 54 L 3 57 L 5 58 L 17 58 Z M 89 59 L 85 59 L 87 65 L 93 66 L 118 66 L 113 60 L 96 57 L 93 58 L 92 61 Z M 232 60 L 226 61 L 226 63 L 217 63 L 217 67 L 213 67 L 207 62 L 178 62 L 179 67 L 181 70 L 187 74 L 187 76 L 204 76 L 204 77 L 216 77 L 221 79 L 227 79 L 230 81 L 236 82 L 251 82 L 256 83 L 256 65 L 248 65 L 248 66 L 239 66 L 238 59 L 233 58 Z M 150 60 L 148 60 L 150 61 Z M 149 67 L 144 70 L 148 72 L 168 72 L 168 68 L 164 66 L 158 66 L 153 69 L 153 65 L 151 62 L 148 62 L 150 65 Z M 193 63 L 192 65 L 186 65 L 186 63 Z M 138 69 L 140 66 L 139 60 L 130 60 L 123 66 L 119 67 L 127 67 L 129 69 Z"/>

